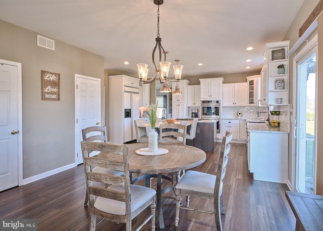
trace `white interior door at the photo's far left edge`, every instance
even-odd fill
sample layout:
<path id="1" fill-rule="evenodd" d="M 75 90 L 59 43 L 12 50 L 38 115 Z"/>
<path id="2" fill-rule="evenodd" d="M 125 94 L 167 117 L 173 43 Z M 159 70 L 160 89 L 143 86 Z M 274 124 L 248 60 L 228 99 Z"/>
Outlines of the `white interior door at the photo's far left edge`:
<path id="1" fill-rule="evenodd" d="M 18 75 L 18 66 L 0 60 L 0 191 L 18 186 Z"/>

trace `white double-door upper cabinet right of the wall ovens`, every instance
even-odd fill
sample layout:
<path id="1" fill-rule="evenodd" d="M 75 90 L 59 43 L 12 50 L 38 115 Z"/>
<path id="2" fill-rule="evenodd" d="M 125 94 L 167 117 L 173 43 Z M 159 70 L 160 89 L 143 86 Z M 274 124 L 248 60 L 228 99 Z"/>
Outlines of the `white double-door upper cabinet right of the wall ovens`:
<path id="1" fill-rule="evenodd" d="M 246 107 L 247 106 L 247 83 L 224 83 L 223 107 Z"/>

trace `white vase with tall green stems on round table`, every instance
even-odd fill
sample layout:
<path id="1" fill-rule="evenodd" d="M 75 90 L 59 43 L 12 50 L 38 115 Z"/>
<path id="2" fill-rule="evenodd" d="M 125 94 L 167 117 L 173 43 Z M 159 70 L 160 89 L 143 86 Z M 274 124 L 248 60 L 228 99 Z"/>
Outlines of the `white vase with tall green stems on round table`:
<path id="1" fill-rule="evenodd" d="M 148 151 L 149 152 L 157 152 L 158 151 L 158 134 L 155 131 L 155 124 L 157 121 L 157 106 L 158 101 L 156 104 L 151 103 L 149 109 L 147 110 L 148 118 L 150 121 L 150 126 L 152 128 L 151 131 L 148 133 Z"/>

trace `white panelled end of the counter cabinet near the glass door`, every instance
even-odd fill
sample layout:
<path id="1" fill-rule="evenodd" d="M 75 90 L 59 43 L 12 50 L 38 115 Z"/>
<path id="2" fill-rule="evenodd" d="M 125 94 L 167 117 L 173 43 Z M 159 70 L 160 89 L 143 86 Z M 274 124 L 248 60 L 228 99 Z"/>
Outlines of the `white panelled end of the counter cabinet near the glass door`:
<path id="1" fill-rule="evenodd" d="M 287 132 L 249 131 L 248 153 L 254 179 L 287 183 Z"/>

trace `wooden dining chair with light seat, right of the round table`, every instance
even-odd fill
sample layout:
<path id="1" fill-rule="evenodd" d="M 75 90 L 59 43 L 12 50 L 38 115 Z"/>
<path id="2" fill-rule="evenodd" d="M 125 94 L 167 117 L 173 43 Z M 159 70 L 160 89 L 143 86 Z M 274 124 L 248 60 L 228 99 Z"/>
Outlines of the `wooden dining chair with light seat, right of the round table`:
<path id="1" fill-rule="evenodd" d="M 176 215 L 175 226 L 179 223 L 180 209 L 214 214 L 217 230 L 222 231 L 221 214 L 225 214 L 222 197 L 223 178 L 226 174 L 228 154 L 230 152 L 230 142 L 232 133 L 226 132 L 223 136 L 218 171 L 216 175 L 198 171 L 187 171 L 176 185 Z M 181 197 L 186 196 L 186 206 L 181 205 Z M 190 197 L 210 199 L 213 201 L 213 210 L 204 210 L 189 207 Z"/>

